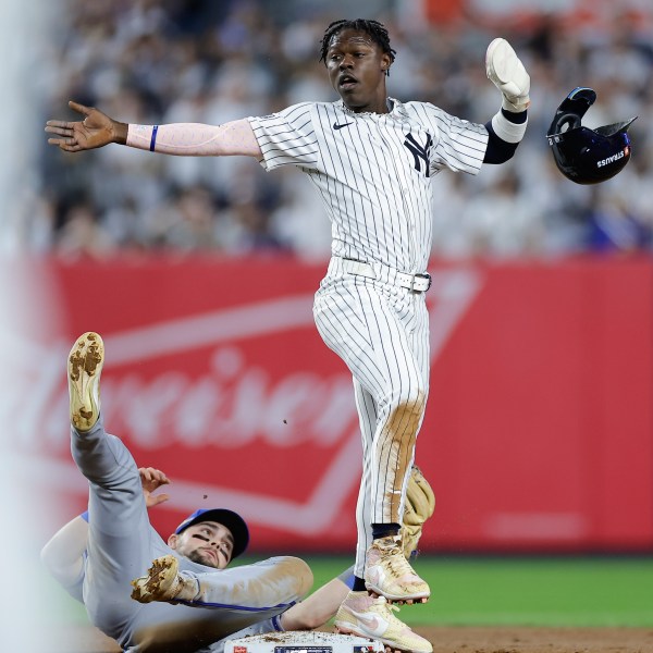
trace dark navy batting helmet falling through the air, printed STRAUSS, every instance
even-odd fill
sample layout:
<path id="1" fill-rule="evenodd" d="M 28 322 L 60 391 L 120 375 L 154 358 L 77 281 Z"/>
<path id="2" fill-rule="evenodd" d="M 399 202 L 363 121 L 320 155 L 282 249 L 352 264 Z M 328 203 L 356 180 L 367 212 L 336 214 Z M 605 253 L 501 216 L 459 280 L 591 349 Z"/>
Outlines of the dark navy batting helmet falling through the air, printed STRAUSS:
<path id="1" fill-rule="evenodd" d="M 558 170 L 577 184 L 597 184 L 615 176 L 630 160 L 627 130 L 636 118 L 590 130 L 581 119 L 594 103 L 591 88 L 575 88 L 557 108 L 546 137 Z"/>

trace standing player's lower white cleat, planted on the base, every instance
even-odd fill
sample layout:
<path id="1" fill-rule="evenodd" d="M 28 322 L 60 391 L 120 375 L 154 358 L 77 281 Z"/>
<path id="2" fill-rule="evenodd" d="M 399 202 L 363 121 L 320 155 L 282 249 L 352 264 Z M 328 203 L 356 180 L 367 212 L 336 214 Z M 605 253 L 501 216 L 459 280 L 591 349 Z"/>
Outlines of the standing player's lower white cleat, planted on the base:
<path id="1" fill-rule="evenodd" d="M 335 615 L 335 628 L 343 634 L 369 637 L 383 642 L 385 650 L 402 653 L 432 653 L 429 640 L 412 632 L 394 616 L 398 612 L 383 596 L 349 592 Z"/>

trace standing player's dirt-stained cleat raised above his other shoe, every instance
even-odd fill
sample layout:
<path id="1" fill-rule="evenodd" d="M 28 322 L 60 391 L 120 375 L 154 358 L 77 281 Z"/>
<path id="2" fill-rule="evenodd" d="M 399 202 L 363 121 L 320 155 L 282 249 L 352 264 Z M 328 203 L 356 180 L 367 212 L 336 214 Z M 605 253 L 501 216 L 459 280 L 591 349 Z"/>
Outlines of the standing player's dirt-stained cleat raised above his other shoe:
<path id="1" fill-rule="evenodd" d="M 391 603 L 426 603 L 429 586 L 415 572 L 399 535 L 380 538 L 367 551 L 365 587 Z"/>

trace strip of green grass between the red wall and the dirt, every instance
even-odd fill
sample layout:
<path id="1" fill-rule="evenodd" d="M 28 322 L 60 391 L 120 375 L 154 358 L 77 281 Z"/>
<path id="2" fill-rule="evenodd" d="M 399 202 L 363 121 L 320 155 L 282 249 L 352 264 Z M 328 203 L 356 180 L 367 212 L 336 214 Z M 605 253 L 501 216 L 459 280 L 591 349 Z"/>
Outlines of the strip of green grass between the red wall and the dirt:
<path id="1" fill-rule="evenodd" d="M 315 587 L 350 558 L 304 556 Z M 245 558 L 243 563 L 259 558 Z M 423 555 L 415 568 L 431 586 L 428 604 L 406 606 L 409 625 L 653 627 L 653 557 L 443 557 Z M 82 606 L 53 581 L 53 603 L 86 623 Z M 58 611 L 58 612 L 59 612 Z"/>

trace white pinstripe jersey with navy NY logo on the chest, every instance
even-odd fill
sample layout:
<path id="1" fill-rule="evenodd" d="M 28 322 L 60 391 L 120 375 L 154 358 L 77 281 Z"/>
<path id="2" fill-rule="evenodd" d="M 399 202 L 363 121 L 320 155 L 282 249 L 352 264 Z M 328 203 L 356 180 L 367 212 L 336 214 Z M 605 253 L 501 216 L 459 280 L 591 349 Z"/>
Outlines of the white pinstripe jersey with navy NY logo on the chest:
<path id="1" fill-rule="evenodd" d="M 317 186 L 332 255 L 419 273 L 431 250 L 431 177 L 478 173 L 488 131 L 430 103 L 390 101 L 390 113 L 355 113 L 338 100 L 248 120 L 266 170 L 296 165 Z"/>

